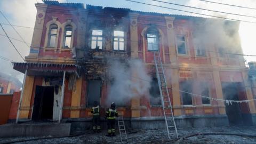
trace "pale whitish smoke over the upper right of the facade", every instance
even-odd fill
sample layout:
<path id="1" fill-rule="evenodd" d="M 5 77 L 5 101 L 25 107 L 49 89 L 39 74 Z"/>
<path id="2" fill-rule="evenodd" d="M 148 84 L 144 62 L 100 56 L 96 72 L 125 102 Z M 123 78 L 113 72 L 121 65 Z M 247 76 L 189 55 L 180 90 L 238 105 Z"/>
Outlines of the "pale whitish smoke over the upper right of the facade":
<path id="1" fill-rule="evenodd" d="M 241 45 L 238 36 L 238 25 L 225 20 L 206 19 L 197 23 L 194 28 L 193 42 L 208 51 L 213 47 L 223 48 L 225 52 L 240 53 Z M 215 51 L 215 50 L 211 50 Z"/>

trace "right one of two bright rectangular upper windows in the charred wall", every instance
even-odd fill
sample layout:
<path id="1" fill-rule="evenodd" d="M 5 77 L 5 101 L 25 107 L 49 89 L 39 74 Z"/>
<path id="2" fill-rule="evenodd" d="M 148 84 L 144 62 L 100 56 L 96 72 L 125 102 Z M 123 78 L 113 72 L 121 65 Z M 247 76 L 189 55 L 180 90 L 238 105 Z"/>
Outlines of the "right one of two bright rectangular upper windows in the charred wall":
<path id="1" fill-rule="evenodd" d="M 114 30 L 114 50 L 124 51 L 124 31 Z"/>

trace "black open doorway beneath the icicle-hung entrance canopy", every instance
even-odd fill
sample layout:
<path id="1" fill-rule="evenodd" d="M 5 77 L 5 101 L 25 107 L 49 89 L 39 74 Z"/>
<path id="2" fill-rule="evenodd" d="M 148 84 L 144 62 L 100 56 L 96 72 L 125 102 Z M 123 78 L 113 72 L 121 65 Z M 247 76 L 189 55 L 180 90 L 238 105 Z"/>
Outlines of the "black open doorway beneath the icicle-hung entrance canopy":
<path id="1" fill-rule="evenodd" d="M 32 120 L 52 119 L 53 86 L 36 86 Z"/>

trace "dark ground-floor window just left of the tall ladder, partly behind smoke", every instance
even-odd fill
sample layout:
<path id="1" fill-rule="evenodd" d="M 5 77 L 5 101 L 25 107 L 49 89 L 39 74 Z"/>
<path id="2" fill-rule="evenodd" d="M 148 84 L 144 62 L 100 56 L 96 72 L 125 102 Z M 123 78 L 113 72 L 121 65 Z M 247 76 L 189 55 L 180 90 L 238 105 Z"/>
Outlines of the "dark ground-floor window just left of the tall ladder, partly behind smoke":
<path id="1" fill-rule="evenodd" d="M 162 106 L 161 95 L 159 91 L 157 78 L 152 79 L 150 83 L 149 94 L 150 94 L 150 106 L 155 106 L 155 107 Z"/>

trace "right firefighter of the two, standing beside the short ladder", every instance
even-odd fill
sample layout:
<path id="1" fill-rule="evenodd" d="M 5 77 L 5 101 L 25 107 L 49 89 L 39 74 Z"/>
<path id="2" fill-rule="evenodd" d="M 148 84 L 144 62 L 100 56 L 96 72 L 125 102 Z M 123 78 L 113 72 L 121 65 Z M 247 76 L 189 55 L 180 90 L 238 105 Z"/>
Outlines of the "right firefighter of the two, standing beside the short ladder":
<path id="1" fill-rule="evenodd" d="M 116 124 L 116 117 L 118 113 L 116 111 L 116 104 L 114 102 L 111 103 L 110 108 L 106 111 L 105 118 L 107 119 L 107 126 L 108 126 L 108 134 L 107 137 L 116 136 L 115 134 L 115 124 Z"/>

